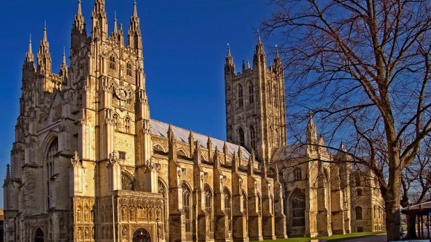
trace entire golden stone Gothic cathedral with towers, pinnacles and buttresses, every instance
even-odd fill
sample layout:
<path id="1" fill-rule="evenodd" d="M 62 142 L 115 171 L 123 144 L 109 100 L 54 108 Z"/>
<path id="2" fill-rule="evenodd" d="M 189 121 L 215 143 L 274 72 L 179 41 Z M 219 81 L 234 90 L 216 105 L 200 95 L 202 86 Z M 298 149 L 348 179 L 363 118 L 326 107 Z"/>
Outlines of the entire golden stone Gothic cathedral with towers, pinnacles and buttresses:
<path id="1" fill-rule="evenodd" d="M 150 118 L 136 3 L 127 37 L 116 19 L 108 33 L 104 0 L 95 0 L 90 29 L 79 1 L 70 66 L 63 54 L 58 74 L 47 29 L 37 59 L 29 42 L 3 184 L 4 241 L 261 241 L 382 230 L 372 175 L 322 148 L 312 115 L 306 142 L 287 144 L 282 61 L 276 53 L 268 64 L 260 37 L 241 72 L 228 47 L 224 141 Z"/>

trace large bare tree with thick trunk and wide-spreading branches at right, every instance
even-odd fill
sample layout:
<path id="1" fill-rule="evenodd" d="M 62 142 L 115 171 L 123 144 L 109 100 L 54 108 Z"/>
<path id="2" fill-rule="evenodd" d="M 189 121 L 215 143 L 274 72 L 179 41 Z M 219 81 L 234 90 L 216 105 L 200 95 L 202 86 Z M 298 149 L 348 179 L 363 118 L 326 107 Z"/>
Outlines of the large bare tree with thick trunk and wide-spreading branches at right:
<path id="1" fill-rule="evenodd" d="M 388 240 L 400 239 L 402 170 L 430 134 L 430 1 L 273 3 L 263 30 L 285 40 L 279 53 L 291 137 L 302 140 L 295 124 L 311 110 L 330 136 L 325 146 L 350 141 L 352 162 L 378 179 Z"/>

